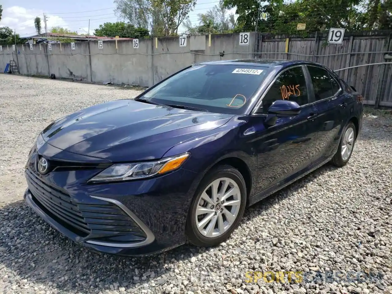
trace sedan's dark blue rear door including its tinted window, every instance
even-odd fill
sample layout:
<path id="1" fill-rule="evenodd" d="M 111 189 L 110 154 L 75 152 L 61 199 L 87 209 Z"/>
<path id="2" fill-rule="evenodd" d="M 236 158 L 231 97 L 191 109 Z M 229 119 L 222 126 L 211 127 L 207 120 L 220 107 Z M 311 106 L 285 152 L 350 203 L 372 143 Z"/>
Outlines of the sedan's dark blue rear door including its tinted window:
<path id="1" fill-rule="evenodd" d="M 344 109 L 347 106 L 345 96 L 338 81 L 325 68 L 317 65 L 307 65 L 311 81 L 311 98 L 318 116 L 314 120 L 318 128 L 314 162 L 328 158 L 339 144 L 339 134 L 344 119 Z"/>

